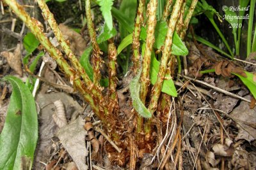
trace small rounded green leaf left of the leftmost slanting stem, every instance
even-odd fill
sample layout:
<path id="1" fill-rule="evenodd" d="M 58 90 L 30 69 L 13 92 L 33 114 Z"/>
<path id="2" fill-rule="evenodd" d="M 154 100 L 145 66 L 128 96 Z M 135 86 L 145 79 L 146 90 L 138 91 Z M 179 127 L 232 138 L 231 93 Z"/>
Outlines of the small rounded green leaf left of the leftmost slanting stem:
<path id="1" fill-rule="evenodd" d="M 37 46 L 39 45 L 39 41 L 36 39 L 34 34 L 32 34 L 31 32 L 28 32 L 28 34 L 24 36 L 23 45 L 27 50 L 27 52 L 31 53 L 37 48 Z"/>

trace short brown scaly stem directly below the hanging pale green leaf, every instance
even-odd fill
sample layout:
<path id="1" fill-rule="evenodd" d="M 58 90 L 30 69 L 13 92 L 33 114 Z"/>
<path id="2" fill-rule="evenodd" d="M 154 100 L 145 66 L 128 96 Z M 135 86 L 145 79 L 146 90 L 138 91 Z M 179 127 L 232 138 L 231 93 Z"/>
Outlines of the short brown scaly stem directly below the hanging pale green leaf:
<path id="1" fill-rule="evenodd" d="M 116 93 L 116 46 L 113 38 L 108 40 L 108 59 L 109 59 L 109 96 L 108 96 L 108 108 L 109 113 L 112 113 L 113 109 L 118 104 L 118 96 Z"/>

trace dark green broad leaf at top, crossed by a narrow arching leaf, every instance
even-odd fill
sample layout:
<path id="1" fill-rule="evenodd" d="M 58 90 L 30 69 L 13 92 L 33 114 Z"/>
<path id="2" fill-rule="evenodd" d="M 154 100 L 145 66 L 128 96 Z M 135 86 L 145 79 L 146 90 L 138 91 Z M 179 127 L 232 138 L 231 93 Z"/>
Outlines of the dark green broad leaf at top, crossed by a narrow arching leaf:
<path id="1" fill-rule="evenodd" d="M 133 27 L 137 10 L 137 0 L 122 1 L 119 10 L 126 16 L 127 23 Z M 125 25 L 119 23 L 119 33 L 122 40 L 130 32 L 126 30 Z"/>

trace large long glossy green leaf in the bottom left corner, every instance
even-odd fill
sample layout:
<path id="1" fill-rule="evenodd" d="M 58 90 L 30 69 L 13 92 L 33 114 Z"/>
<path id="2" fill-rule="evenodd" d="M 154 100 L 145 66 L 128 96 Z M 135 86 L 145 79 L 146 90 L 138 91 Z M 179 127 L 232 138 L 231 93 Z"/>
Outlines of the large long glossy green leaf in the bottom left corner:
<path id="1" fill-rule="evenodd" d="M 6 76 L 4 80 L 12 84 L 12 96 L 0 135 L 0 169 L 20 169 L 21 160 L 31 169 L 38 139 L 35 101 L 19 78 Z"/>

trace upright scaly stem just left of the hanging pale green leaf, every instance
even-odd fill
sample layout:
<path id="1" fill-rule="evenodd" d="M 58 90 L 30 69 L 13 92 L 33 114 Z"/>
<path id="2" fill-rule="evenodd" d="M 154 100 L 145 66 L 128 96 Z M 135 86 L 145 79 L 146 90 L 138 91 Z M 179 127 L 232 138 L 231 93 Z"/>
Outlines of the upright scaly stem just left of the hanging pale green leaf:
<path id="1" fill-rule="evenodd" d="M 93 46 L 93 82 L 97 87 L 99 87 L 99 82 L 100 82 L 100 67 L 102 63 L 102 59 L 100 58 L 100 48 L 99 45 L 96 41 L 96 32 L 94 29 L 94 25 L 92 22 L 92 13 L 91 13 L 91 0 L 86 0 L 85 1 L 85 11 L 86 11 L 86 20 L 87 20 L 87 25 L 88 25 L 88 30 L 90 34 L 90 39 L 92 41 L 92 46 Z"/>

